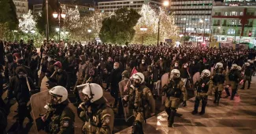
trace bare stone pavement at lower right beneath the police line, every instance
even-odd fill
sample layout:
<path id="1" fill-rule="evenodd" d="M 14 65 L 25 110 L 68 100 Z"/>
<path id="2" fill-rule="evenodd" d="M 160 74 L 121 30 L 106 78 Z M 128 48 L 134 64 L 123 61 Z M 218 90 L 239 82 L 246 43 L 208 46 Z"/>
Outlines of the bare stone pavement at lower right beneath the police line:
<path id="1" fill-rule="evenodd" d="M 247 86 L 246 86 L 247 87 Z M 256 77 L 253 77 L 251 88 L 238 91 L 235 100 L 221 98 L 220 106 L 213 103 L 213 96 L 209 97 L 206 114 L 193 115 L 195 97 L 187 101 L 187 107 L 180 107 L 177 112 L 183 116 L 175 117 L 174 128 L 167 127 L 165 111 L 147 119 L 143 125 L 145 134 L 255 134 L 256 133 Z M 222 92 L 225 96 L 225 92 Z M 201 104 L 200 104 L 201 107 Z M 200 108 L 198 111 L 201 111 Z M 132 127 L 117 134 L 128 134 Z"/>

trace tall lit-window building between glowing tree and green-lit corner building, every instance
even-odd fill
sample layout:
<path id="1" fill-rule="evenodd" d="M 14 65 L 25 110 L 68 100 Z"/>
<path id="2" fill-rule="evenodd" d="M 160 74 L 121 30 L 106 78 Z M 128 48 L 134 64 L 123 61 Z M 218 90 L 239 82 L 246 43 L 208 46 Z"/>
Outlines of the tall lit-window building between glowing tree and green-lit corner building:
<path id="1" fill-rule="evenodd" d="M 213 0 L 171 0 L 170 11 L 180 34 L 191 37 L 191 41 L 209 40 Z"/>

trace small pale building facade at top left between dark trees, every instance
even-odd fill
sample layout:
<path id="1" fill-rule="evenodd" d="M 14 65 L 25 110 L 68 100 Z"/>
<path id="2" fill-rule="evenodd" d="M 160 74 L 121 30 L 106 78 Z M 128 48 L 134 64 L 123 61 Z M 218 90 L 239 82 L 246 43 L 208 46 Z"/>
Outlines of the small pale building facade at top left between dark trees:
<path id="1" fill-rule="evenodd" d="M 13 3 L 16 6 L 17 18 L 28 13 L 28 0 L 13 0 Z"/>

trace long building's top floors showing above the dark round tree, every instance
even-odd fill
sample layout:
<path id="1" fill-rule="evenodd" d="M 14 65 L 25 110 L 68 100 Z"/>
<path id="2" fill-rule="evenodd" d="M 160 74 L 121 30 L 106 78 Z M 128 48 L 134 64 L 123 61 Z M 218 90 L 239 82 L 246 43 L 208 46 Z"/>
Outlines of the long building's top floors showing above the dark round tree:
<path id="1" fill-rule="evenodd" d="M 152 7 L 158 8 L 161 6 L 161 2 L 152 0 L 123 0 L 123 1 L 111 1 L 111 2 L 98 2 L 98 9 L 102 13 L 115 12 L 117 9 L 128 8 L 139 11 L 143 4 L 150 4 Z"/>

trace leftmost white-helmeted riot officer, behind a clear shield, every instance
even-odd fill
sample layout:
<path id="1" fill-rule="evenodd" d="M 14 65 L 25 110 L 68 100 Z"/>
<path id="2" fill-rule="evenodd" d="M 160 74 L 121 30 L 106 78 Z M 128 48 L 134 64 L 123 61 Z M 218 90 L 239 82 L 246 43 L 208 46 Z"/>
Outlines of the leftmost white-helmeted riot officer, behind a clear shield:
<path id="1" fill-rule="evenodd" d="M 75 114 L 70 109 L 68 91 L 62 86 L 50 89 L 50 101 L 45 106 L 48 111 L 44 114 L 44 130 L 49 133 L 73 134 Z"/>

